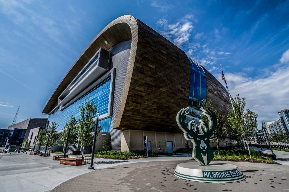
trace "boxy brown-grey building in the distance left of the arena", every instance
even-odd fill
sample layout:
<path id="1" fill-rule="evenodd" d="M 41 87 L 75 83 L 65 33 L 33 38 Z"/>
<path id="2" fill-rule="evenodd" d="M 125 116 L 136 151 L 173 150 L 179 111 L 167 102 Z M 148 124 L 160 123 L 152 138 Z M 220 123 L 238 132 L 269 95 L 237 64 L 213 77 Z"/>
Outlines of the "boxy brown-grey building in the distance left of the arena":
<path id="1" fill-rule="evenodd" d="M 24 139 L 28 138 L 28 135 L 30 133 L 30 130 L 36 127 L 45 127 L 47 123 L 47 118 L 31 118 L 26 119 L 24 121 L 21 121 L 19 123 L 16 123 L 14 125 L 8 126 L 8 129 L 23 129 L 25 130 L 25 136 Z"/>

